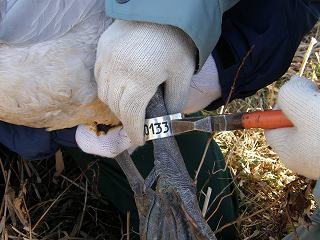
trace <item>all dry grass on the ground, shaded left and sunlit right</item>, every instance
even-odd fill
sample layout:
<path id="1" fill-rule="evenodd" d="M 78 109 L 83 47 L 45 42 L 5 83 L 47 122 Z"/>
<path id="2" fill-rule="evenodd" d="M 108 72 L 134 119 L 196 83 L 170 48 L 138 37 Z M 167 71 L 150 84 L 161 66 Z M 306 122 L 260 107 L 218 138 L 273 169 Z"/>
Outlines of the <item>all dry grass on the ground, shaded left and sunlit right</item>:
<path id="1" fill-rule="evenodd" d="M 302 41 L 278 82 L 250 98 L 233 101 L 225 111 L 271 108 L 279 87 L 299 71 L 311 36 L 319 37 L 319 26 Z M 314 81 L 320 77 L 319 55 L 317 44 L 304 74 Z M 241 239 L 281 239 L 299 223 L 308 223 L 315 207 L 310 194 L 313 182 L 279 162 L 262 130 L 222 132 L 214 139 L 235 175 L 241 209 L 235 224 Z M 125 218 L 101 199 L 95 184 L 89 184 L 70 160 L 65 159 L 63 175 L 54 177 L 53 159 L 27 162 L 3 148 L 0 157 L 1 239 L 126 238 Z"/>

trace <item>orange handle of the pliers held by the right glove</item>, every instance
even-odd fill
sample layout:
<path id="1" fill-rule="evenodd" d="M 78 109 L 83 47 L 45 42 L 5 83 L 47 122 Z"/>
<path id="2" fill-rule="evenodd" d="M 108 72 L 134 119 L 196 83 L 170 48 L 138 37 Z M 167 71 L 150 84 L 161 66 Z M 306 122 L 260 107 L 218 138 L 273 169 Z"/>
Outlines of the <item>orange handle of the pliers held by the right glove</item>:
<path id="1" fill-rule="evenodd" d="M 244 128 L 274 129 L 293 127 L 293 124 L 281 110 L 268 110 L 244 113 L 242 126 Z"/>

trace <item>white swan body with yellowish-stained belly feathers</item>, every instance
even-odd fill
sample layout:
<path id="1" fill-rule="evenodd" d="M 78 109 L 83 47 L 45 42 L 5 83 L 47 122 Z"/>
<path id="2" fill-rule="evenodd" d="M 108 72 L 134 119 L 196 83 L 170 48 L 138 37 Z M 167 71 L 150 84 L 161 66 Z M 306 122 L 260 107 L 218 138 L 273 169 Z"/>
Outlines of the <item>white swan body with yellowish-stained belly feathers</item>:
<path id="1" fill-rule="evenodd" d="M 21 0 L 28 1 L 31 5 L 39 3 Z M 40 27 L 37 24 L 40 30 L 31 26 L 33 32 L 16 36 L 10 29 L 9 33 L 0 29 L 0 41 L 4 39 L 0 45 L 0 120 L 50 130 L 93 122 L 118 124 L 109 108 L 98 100 L 93 76 L 97 42 L 107 26 L 103 0 L 95 0 L 95 5 L 79 0 L 46 2 L 69 4 L 68 8 L 83 3 L 84 7 L 75 9 L 79 17 L 71 19 L 69 25 L 51 20 Z M 64 8 L 65 13 L 49 12 L 42 17 L 61 19 L 68 14 L 68 8 Z M 10 23 L 9 17 L 14 18 L 8 16 L 7 23 L 5 16 L 3 25 Z M 41 21 L 39 16 L 35 18 Z M 46 29 L 49 24 L 53 29 Z"/>

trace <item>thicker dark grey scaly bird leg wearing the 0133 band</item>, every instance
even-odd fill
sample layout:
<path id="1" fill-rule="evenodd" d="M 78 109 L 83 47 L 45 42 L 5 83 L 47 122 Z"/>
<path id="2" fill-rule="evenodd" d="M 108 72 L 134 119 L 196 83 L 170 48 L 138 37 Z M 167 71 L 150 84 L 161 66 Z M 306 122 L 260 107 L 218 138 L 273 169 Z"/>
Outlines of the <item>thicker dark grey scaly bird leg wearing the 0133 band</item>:
<path id="1" fill-rule="evenodd" d="M 147 107 L 147 118 L 164 115 L 167 115 L 167 110 L 159 88 Z M 146 227 L 149 230 L 146 239 L 154 239 L 155 236 L 157 239 L 216 239 L 202 217 L 196 188 L 175 138 L 153 140 L 153 146 L 154 171 L 159 178 L 155 204 L 150 211 L 149 226 Z M 160 213 L 156 207 L 161 209 Z M 157 222 L 159 217 L 160 224 Z M 157 231 L 152 231 L 154 222 L 157 223 Z"/>

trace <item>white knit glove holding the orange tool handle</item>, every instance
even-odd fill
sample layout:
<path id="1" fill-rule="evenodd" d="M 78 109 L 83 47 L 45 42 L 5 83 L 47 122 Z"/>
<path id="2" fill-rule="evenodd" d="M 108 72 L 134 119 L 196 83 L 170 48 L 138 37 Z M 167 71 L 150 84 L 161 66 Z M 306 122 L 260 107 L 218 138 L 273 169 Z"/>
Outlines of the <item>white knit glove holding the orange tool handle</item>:
<path id="1" fill-rule="evenodd" d="M 310 80 L 294 76 L 281 87 L 278 107 L 295 127 L 265 131 L 270 146 L 292 171 L 320 176 L 320 92 Z"/>

